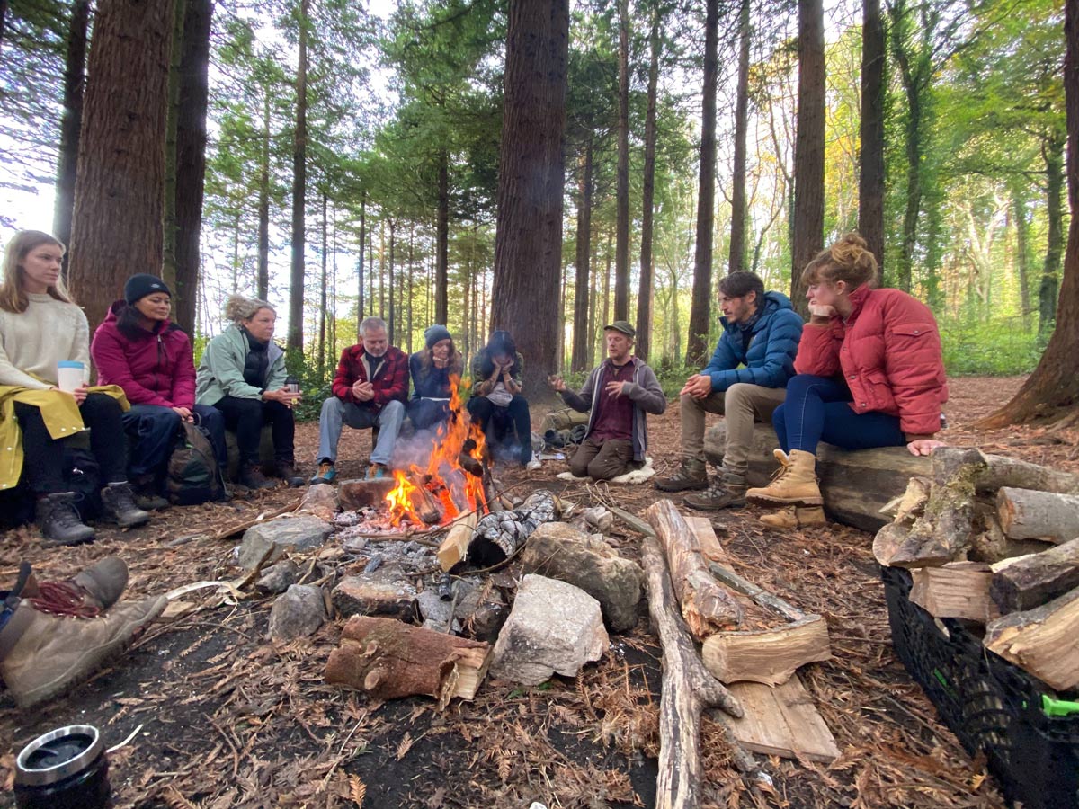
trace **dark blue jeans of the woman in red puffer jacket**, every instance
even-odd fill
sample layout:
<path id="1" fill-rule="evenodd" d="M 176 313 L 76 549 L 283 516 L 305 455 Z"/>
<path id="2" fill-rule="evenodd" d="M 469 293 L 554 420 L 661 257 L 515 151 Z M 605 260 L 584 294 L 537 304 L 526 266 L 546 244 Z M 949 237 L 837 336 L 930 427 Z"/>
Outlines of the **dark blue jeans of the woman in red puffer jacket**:
<path id="1" fill-rule="evenodd" d="M 906 444 L 898 415 L 856 413 L 849 401 L 850 390 L 841 382 L 808 373 L 792 376 L 787 400 L 771 414 L 780 448 L 817 454 L 821 441 L 844 450 Z"/>

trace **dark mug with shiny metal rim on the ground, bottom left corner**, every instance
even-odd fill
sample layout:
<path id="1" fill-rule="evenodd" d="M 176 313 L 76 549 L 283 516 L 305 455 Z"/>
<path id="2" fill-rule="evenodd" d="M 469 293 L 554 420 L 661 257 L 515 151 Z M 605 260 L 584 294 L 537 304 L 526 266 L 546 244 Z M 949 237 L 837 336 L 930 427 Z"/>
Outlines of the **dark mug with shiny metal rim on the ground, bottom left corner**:
<path id="1" fill-rule="evenodd" d="M 18 809 L 109 809 L 109 762 L 93 725 L 39 736 L 15 759 Z"/>

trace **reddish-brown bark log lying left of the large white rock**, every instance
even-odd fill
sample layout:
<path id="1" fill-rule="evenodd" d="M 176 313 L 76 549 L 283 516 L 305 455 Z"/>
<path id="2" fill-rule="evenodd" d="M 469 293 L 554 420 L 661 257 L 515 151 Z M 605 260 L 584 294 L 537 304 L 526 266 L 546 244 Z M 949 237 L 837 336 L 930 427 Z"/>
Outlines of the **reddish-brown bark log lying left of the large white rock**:
<path id="1" fill-rule="evenodd" d="M 380 699 L 426 695 L 445 708 L 473 699 L 487 674 L 490 644 L 413 627 L 393 618 L 354 615 L 330 653 L 326 682 Z"/>

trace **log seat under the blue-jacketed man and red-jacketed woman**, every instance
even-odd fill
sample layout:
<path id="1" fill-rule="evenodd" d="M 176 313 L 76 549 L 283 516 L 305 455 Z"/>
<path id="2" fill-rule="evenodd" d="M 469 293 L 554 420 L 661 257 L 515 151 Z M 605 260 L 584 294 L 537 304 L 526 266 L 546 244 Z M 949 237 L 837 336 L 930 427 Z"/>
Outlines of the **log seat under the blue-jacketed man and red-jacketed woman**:
<path id="1" fill-rule="evenodd" d="M 709 463 L 716 466 L 723 463 L 725 443 L 724 422 L 706 430 L 705 454 Z M 768 484 L 776 470 L 771 451 L 778 445 L 770 424 L 756 425 L 750 449 L 750 485 Z M 873 532 L 890 522 L 880 509 L 906 491 L 911 478 L 929 477 L 931 471 L 928 457 L 912 455 L 903 447 L 848 452 L 822 443 L 817 452 L 817 475 L 824 509 L 832 519 L 862 531 Z"/>

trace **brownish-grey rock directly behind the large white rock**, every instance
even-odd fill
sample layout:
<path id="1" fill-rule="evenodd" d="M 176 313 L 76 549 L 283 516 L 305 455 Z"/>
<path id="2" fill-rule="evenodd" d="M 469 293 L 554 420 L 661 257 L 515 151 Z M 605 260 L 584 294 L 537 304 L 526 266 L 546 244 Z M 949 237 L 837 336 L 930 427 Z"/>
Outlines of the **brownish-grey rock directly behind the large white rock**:
<path id="1" fill-rule="evenodd" d="M 637 623 L 641 568 L 619 557 L 600 534 L 587 535 L 564 522 L 544 523 L 529 537 L 521 567 L 525 573 L 579 587 L 599 601 L 603 618 L 614 632 L 624 632 Z"/>

